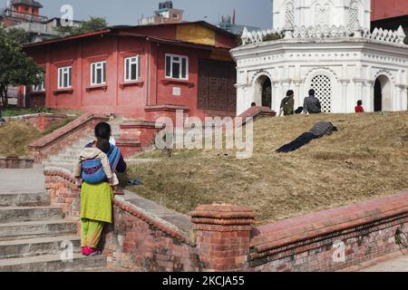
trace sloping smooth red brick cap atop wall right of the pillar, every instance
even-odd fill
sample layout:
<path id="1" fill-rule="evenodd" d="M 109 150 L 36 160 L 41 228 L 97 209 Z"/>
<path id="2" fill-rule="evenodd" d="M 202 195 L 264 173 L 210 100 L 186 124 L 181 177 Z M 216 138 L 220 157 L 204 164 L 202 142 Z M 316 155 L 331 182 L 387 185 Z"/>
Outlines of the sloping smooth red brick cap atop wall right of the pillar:
<path id="1" fill-rule="evenodd" d="M 251 247 L 261 253 L 407 213 L 408 192 L 375 198 L 256 227 Z"/>

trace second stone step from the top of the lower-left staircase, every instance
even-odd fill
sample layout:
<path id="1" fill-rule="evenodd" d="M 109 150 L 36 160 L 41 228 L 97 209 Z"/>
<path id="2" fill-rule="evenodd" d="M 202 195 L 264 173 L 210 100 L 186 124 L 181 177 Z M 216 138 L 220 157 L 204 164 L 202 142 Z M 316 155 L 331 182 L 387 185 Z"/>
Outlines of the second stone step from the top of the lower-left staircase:
<path id="1" fill-rule="evenodd" d="M 0 208 L 0 224 L 24 220 L 63 218 L 63 209 L 52 207 L 5 207 Z"/>

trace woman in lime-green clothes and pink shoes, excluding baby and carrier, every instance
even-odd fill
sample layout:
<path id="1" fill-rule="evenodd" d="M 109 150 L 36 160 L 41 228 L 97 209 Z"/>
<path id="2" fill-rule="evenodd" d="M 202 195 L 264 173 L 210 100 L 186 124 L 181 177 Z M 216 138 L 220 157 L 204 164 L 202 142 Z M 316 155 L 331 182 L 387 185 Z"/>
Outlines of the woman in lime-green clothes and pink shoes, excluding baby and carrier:
<path id="1" fill-rule="evenodd" d="M 97 140 L 110 140 L 111 126 L 101 122 L 95 127 L 95 137 Z M 90 148 L 95 141 L 88 144 Z M 115 146 L 111 144 L 111 150 Z M 108 153 L 109 154 L 109 153 Z M 110 160 L 111 161 L 111 160 Z M 112 164 L 111 164 L 112 165 Z M 117 172 L 126 171 L 126 163 L 121 154 L 115 162 Z M 83 182 L 81 188 L 81 247 L 84 256 L 101 255 L 98 244 L 102 237 L 102 230 L 105 224 L 112 224 L 112 186 L 108 180 L 98 184 Z"/>

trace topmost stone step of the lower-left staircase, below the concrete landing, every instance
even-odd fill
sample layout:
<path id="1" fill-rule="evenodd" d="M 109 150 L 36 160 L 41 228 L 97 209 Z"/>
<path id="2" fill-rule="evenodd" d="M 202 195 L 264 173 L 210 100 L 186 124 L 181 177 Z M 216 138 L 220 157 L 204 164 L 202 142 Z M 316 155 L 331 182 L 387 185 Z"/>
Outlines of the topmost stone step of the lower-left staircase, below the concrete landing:
<path id="1" fill-rule="evenodd" d="M 33 193 L 0 193 L 0 207 L 34 207 L 48 206 L 50 197 L 45 192 Z"/>

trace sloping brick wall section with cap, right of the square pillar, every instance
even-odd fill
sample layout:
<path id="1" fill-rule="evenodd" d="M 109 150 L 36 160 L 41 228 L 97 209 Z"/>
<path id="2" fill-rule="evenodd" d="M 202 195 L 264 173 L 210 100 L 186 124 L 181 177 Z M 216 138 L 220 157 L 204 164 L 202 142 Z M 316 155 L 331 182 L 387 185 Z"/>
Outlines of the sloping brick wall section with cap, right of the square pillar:
<path id="1" fill-rule="evenodd" d="M 254 271 L 334 271 L 398 251 L 398 227 L 408 229 L 408 193 L 257 227 L 249 264 Z M 337 241 L 344 261 L 333 258 Z"/>

